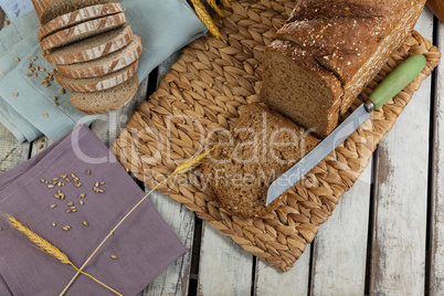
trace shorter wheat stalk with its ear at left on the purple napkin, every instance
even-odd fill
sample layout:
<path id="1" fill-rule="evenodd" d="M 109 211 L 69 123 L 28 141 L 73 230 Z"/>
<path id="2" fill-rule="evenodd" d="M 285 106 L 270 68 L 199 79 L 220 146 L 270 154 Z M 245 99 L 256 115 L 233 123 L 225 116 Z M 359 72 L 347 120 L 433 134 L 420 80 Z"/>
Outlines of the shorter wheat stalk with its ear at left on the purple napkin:
<path id="1" fill-rule="evenodd" d="M 74 269 L 77 271 L 77 273 L 84 274 L 88 277 L 91 277 L 92 279 L 94 279 L 96 283 L 101 284 L 102 286 L 108 288 L 109 290 L 114 292 L 117 295 L 120 295 L 120 293 L 118 293 L 117 290 L 110 288 L 109 286 L 105 285 L 104 283 L 102 283 L 101 281 L 96 279 L 95 277 L 93 277 L 92 275 L 84 273 L 82 271 L 80 271 L 71 261 L 70 258 L 62 253 L 62 251 L 60 251 L 55 245 L 53 245 L 52 243 L 50 243 L 49 241 L 46 241 L 45 239 L 43 239 L 42 236 L 40 236 L 39 234 L 36 234 L 35 232 L 33 232 L 31 229 L 29 229 L 27 225 L 24 225 L 22 222 L 20 222 L 19 220 L 17 220 L 15 218 L 13 218 L 12 215 L 9 214 L 4 214 L 4 218 L 8 220 L 9 224 L 11 224 L 14 229 L 17 229 L 18 231 L 20 231 L 21 233 L 23 233 L 31 242 L 33 242 L 35 245 L 38 245 L 40 247 L 40 250 L 42 250 L 43 252 L 45 252 L 46 254 L 50 254 L 51 256 L 55 257 L 56 260 L 59 260 L 60 262 L 71 265 L 72 267 L 74 267 Z"/>

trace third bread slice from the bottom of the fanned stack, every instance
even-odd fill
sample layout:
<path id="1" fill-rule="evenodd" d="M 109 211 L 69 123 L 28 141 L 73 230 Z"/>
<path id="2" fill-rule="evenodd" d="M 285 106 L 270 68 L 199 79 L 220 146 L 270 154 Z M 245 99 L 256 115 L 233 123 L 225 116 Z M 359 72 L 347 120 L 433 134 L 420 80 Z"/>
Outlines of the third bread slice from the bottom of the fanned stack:
<path id="1" fill-rule="evenodd" d="M 57 71 L 60 75 L 71 78 L 102 76 L 133 64 L 139 59 L 141 50 L 140 38 L 134 35 L 131 43 L 112 54 L 89 62 L 57 65 Z"/>

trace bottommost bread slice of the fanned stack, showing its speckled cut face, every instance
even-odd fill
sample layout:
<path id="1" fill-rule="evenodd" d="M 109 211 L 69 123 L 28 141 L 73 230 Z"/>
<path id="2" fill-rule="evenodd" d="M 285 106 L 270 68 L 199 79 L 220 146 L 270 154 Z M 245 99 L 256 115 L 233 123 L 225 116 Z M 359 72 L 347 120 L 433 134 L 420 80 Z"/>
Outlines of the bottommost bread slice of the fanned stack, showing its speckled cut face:
<path id="1" fill-rule="evenodd" d="M 87 114 L 101 114 L 128 104 L 138 88 L 137 75 L 113 88 L 96 93 L 74 93 L 71 104 Z"/>

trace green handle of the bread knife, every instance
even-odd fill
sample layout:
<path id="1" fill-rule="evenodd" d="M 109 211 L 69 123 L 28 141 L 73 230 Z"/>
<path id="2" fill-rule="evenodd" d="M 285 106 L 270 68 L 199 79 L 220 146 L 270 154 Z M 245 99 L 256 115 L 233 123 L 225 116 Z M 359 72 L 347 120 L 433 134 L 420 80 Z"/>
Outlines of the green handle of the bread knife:
<path id="1" fill-rule="evenodd" d="M 382 105 L 404 89 L 421 73 L 425 64 L 426 60 L 424 55 L 414 54 L 410 56 L 378 85 L 369 99 L 374 104 L 377 109 L 382 107 Z"/>

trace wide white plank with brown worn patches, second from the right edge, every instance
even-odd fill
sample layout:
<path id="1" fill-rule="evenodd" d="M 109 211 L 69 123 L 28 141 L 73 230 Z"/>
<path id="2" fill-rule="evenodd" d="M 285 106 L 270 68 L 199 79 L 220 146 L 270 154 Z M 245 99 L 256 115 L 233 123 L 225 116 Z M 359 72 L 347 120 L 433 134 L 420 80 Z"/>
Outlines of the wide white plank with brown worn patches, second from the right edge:
<path id="1" fill-rule="evenodd" d="M 432 39 L 429 10 L 416 30 Z M 371 294 L 423 295 L 431 78 L 379 147 Z"/>

